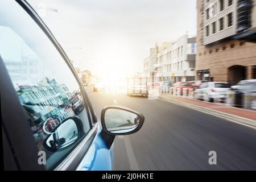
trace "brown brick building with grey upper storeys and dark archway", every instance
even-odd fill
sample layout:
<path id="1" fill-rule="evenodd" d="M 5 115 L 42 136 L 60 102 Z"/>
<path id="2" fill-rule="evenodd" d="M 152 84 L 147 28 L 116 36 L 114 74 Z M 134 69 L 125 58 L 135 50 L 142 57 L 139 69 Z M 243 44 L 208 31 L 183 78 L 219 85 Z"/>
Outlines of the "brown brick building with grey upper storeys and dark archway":
<path id="1" fill-rule="evenodd" d="M 256 78 L 256 0 L 197 0 L 196 79 Z"/>

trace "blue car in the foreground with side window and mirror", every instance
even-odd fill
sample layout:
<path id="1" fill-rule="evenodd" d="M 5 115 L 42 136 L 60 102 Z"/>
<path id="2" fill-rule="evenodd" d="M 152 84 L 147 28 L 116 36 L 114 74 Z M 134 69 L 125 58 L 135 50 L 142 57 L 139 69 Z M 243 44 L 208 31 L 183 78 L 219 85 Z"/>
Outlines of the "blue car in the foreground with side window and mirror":
<path id="1" fill-rule="evenodd" d="M 115 136 L 140 130 L 143 115 L 122 106 L 106 106 L 100 124 L 71 61 L 26 1 L 1 1 L 0 40 L 4 169 L 111 170 Z M 22 50 L 26 55 L 20 54 Z M 40 65 L 38 73 L 13 74 L 9 68 L 17 63 L 13 57 L 22 57 L 15 69 Z M 79 94 L 83 107 L 79 114 L 61 119 L 57 114 L 70 107 L 72 93 Z M 79 102 L 75 100 L 73 106 Z"/>

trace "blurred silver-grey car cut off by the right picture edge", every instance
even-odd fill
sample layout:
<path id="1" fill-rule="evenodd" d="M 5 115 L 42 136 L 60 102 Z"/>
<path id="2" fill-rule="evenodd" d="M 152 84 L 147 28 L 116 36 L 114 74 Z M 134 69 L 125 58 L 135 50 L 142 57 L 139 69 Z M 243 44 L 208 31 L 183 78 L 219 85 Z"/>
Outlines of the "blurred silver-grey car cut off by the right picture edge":
<path id="1" fill-rule="evenodd" d="M 228 93 L 227 104 L 235 107 L 256 110 L 256 79 L 242 80 L 232 86 Z"/>

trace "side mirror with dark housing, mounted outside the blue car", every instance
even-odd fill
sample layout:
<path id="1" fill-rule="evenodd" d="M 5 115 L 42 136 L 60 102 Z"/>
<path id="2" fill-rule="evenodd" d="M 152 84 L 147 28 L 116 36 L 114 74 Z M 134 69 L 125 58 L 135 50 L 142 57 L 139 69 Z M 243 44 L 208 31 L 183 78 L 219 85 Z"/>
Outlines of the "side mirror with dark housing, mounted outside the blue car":
<path id="1" fill-rule="evenodd" d="M 129 135 L 141 129 L 144 116 L 122 106 L 107 106 L 101 112 L 102 129 L 108 135 Z"/>

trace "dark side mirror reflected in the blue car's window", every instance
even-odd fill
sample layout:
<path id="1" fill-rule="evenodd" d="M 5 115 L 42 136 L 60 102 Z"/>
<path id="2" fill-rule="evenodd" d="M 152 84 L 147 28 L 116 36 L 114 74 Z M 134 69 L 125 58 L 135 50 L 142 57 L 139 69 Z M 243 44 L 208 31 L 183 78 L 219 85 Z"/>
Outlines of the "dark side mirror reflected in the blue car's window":
<path id="1" fill-rule="evenodd" d="M 52 121 L 59 122 L 49 130 L 47 127 L 52 125 Z M 84 135 L 82 122 L 78 117 L 68 117 L 62 122 L 57 117 L 50 117 L 44 122 L 43 129 L 48 134 L 44 147 L 49 151 L 64 150 L 75 144 Z"/>

